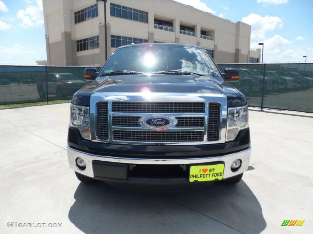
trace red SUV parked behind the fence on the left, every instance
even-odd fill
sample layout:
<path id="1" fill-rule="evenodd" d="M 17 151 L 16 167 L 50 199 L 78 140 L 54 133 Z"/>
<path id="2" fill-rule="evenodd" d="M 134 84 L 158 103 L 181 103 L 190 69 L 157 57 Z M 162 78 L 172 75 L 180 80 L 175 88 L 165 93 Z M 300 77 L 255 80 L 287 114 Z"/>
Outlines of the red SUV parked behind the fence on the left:
<path id="1" fill-rule="evenodd" d="M 48 82 L 48 85 L 47 83 Z M 37 81 L 37 91 L 40 98 L 48 95 L 57 95 L 59 97 L 73 95 L 77 90 L 85 85 L 85 82 L 79 80 L 71 73 L 49 73 L 39 75 Z"/>

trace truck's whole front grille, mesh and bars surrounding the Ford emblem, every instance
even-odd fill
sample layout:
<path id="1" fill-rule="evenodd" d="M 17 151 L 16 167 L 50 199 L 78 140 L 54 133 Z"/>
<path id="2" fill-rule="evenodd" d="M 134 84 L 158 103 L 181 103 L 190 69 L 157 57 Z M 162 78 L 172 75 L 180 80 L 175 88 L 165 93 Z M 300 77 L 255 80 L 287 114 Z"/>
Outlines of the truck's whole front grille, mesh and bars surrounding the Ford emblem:
<path id="1" fill-rule="evenodd" d="M 140 123 L 146 116 L 169 116 L 176 119 L 177 124 L 168 129 L 149 128 Z M 221 104 L 218 102 L 100 101 L 96 102 L 95 117 L 99 141 L 213 144 L 221 139 Z"/>

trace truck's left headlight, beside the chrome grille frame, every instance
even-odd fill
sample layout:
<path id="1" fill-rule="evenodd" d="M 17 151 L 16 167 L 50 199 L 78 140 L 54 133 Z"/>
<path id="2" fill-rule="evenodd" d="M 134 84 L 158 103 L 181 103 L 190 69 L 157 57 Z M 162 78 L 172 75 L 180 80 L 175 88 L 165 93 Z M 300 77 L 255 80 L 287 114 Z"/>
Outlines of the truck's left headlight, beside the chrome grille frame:
<path id="1" fill-rule="evenodd" d="M 82 137 L 90 140 L 89 107 L 71 105 L 69 125 L 79 129 Z"/>

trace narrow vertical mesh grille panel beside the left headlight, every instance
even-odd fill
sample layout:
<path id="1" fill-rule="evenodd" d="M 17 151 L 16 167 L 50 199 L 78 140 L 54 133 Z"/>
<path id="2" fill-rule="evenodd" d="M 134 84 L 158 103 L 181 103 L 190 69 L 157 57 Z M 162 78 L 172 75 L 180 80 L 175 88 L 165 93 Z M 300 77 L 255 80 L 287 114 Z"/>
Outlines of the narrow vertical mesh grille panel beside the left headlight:
<path id="1" fill-rule="evenodd" d="M 109 139 L 107 102 L 97 103 L 97 136 L 101 140 Z"/>

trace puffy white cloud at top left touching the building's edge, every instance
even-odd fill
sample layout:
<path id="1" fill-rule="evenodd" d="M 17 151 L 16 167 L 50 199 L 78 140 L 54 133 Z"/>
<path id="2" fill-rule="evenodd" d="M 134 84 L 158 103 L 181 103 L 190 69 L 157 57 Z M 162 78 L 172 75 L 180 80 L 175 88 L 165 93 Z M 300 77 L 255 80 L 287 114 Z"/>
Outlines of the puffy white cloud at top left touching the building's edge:
<path id="1" fill-rule="evenodd" d="M 28 3 L 26 9 L 18 10 L 16 15 L 17 19 L 21 21 L 19 25 L 24 28 L 42 26 L 44 24 L 42 1 L 25 0 L 25 2 Z"/>

